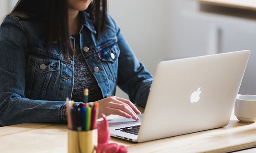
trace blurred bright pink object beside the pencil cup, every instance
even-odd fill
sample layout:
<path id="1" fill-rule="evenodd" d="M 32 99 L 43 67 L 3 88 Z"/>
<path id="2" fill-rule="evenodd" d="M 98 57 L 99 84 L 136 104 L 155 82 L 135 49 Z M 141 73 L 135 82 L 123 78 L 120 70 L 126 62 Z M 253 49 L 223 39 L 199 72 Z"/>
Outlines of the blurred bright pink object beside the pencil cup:
<path id="1" fill-rule="evenodd" d="M 97 153 L 127 153 L 128 150 L 124 146 L 118 146 L 117 143 L 108 143 L 111 139 L 108 122 L 105 114 L 101 114 L 103 121 L 98 125 L 98 146 Z"/>

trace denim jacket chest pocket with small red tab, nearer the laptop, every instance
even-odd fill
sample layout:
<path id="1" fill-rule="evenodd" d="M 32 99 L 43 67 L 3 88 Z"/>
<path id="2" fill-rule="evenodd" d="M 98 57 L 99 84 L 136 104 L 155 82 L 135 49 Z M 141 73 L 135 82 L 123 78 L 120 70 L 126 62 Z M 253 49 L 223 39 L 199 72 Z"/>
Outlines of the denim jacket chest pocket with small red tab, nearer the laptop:
<path id="1" fill-rule="evenodd" d="M 110 79 L 117 79 L 119 54 L 120 49 L 117 44 L 108 46 L 98 52 L 98 56 Z"/>

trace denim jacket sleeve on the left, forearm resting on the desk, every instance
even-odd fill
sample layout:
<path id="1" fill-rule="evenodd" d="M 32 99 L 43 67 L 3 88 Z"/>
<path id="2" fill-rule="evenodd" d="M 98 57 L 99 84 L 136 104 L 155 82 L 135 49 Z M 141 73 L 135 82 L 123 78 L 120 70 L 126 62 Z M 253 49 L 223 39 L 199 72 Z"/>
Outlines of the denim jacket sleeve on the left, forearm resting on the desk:
<path id="1" fill-rule="evenodd" d="M 21 22 L 8 15 L 0 26 L 0 126 L 66 122 L 65 101 L 25 98 L 27 38 Z"/>

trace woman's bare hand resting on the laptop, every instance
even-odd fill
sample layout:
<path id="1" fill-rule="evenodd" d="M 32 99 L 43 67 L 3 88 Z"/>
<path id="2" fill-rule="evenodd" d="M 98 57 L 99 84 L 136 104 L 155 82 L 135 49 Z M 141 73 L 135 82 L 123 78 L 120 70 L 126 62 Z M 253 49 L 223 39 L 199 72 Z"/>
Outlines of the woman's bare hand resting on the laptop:
<path id="1" fill-rule="evenodd" d="M 111 114 L 120 115 L 139 121 L 137 114 L 140 114 L 140 111 L 132 102 L 130 102 L 130 100 L 110 96 L 102 100 L 98 100 L 97 102 L 99 103 L 99 117 L 101 113 L 104 113 L 106 116 Z"/>

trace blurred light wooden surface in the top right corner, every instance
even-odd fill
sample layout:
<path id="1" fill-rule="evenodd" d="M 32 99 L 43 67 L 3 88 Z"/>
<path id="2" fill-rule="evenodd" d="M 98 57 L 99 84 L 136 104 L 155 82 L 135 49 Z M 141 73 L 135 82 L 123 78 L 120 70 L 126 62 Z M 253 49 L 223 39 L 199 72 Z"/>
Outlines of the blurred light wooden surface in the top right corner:
<path id="1" fill-rule="evenodd" d="M 197 0 L 197 1 L 202 3 L 229 6 L 229 7 L 256 11 L 255 0 Z"/>

